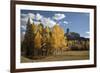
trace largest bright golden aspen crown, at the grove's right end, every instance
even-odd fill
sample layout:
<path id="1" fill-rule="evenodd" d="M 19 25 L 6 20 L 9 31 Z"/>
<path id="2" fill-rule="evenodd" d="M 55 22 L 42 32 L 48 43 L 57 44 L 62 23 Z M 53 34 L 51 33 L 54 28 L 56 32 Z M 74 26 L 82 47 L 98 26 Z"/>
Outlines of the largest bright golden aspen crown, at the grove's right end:
<path id="1" fill-rule="evenodd" d="M 52 30 L 51 44 L 53 48 L 65 48 L 66 40 L 64 37 L 64 31 L 59 25 L 55 25 Z"/>

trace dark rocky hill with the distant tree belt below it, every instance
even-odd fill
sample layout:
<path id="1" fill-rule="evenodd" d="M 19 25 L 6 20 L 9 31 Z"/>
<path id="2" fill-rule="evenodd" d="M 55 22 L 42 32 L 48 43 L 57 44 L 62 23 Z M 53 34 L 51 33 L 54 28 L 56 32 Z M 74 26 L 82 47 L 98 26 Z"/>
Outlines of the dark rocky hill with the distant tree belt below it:
<path id="1" fill-rule="evenodd" d="M 80 37 L 76 32 L 65 33 L 67 38 L 67 46 L 69 50 L 89 50 L 89 38 Z"/>

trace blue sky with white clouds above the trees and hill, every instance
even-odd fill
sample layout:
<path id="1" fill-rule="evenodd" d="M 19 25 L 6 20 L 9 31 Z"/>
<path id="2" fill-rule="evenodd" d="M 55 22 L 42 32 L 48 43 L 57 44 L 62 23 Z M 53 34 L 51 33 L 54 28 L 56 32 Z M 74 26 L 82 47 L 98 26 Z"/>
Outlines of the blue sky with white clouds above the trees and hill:
<path id="1" fill-rule="evenodd" d="M 89 16 L 89 13 L 82 12 L 21 10 L 21 30 L 25 32 L 27 19 L 31 17 L 31 22 L 36 22 L 36 24 L 39 23 L 38 20 L 41 20 L 44 26 L 53 27 L 55 24 L 59 24 L 65 32 L 69 28 L 70 32 L 89 37 Z"/>

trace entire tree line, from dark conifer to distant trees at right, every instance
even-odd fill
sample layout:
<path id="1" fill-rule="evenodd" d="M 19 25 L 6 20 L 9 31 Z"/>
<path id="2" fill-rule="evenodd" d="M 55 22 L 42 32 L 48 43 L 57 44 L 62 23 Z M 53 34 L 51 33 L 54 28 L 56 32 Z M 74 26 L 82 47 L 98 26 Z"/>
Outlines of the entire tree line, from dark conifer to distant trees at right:
<path id="1" fill-rule="evenodd" d="M 71 33 L 80 37 L 75 32 Z M 21 42 L 21 54 L 27 57 L 61 55 L 66 50 L 88 50 L 89 41 L 70 40 L 58 24 L 52 28 L 42 23 L 30 23 L 28 19 L 24 40 Z"/>

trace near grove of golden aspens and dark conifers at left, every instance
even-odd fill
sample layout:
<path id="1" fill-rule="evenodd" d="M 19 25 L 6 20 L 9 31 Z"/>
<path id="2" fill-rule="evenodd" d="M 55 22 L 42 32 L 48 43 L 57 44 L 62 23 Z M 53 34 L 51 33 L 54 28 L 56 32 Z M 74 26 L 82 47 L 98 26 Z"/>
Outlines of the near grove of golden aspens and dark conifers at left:
<path id="1" fill-rule="evenodd" d="M 64 30 L 59 25 L 52 28 L 44 27 L 41 23 L 30 24 L 28 20 L 24 40 L 21 42 L 21 50 L 25 56 L 56 55 L 66 49 L 66 37 Z"/>

